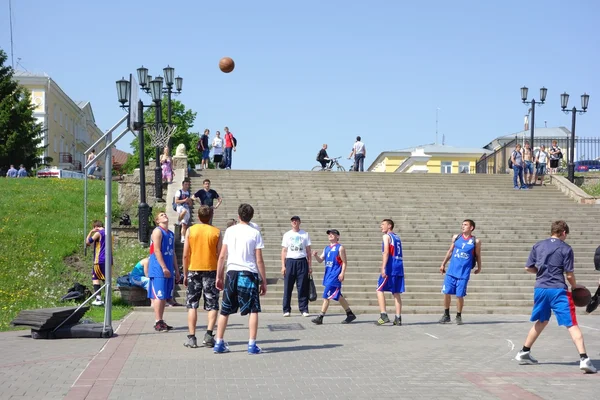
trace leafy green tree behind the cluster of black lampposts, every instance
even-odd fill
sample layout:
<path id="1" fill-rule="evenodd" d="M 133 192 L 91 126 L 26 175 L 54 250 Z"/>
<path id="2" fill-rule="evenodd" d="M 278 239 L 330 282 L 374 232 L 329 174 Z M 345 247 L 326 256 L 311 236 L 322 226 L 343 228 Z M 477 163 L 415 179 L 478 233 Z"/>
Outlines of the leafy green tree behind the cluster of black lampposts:
<path id="1" fill-rule="evenodd" d="M 167 123 L 168 121 L 168 110 L 167 110 L 167 98 L 163 98 L 162 104 L 162 122 Z M 154 107 L 147 108 L 144 111 L 144 124 L 154 124 L 156 121 L 156 110 Z M 196 113 L 192 110 L 186 110 L 185 105 L 178 100 L 171 100 L 171 122 L 177 126 L 175 134 L 172 136 L 173 148 L 171 149 L 171 156 L 175 154 L 175 149 L 181 143 L 185 145 L 188 155 L 188 163 L 192 166 L 200 164 L 201 155 L 196 151 L 196 143 L 198 142 L 199 134 L 197 132 L 191 132 L 196 119 Z M 139 138 L 135 137 L 131 142 L 131 148 L 133 150 L 133 156 L 129 157 L 127 163 L 124 165 L 123 170 L 126 173 L 130 173 L 135 168 L 140 166 L 139 158 Z M 162 153 L 162 149 L 161 149 Z M 148 165 L 150 158 L 155 159 L 156 148 L 152 147 L 150 141 L 150 134 L 144 129 L 144 160 Z M 154 166 L 154 162 L 151 166 Z"/>

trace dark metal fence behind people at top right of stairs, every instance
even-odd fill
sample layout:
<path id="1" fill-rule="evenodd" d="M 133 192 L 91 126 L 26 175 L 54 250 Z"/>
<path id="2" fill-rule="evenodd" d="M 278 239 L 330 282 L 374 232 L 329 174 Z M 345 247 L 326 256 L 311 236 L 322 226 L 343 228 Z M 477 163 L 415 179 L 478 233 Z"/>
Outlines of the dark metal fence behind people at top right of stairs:
<path id="1" fill-rule="evenodd" d="M 563 162 L 569 162 L 571 138 L 536 138 L 534 151 L 539 146 L 544 145 L 546 151 L 552 147 L 552 142 L 556 140 L 558 147 L 563 153 Z M 478 174 L 505 174 L 509 172 L 508 160 L 517 143 L 522 143 L 522 139 L 515 137 L 510 142 L 489 155 L 481 157 L 476 164 Z M 600 138 L 575 138 L 575 161 L 598 160 L 600 159 Z"/>

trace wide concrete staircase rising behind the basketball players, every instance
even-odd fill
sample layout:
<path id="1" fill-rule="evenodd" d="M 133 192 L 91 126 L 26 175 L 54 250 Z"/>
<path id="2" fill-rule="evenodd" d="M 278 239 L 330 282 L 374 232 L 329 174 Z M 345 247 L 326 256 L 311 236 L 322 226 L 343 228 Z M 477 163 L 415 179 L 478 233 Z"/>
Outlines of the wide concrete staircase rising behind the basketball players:
<path id="1" fill-rule="evenodd" d="M 347 248 L 348 272 L 343 293 L 357 313 L 377 313 L 375 287 L 381 265 L 379 223 L 392 218 L 402 239 L 406 293 L 403 313 L 441 313 L 443 281 L 440 264 L 463 219 L 475 220 L 482 240 L 483 269 L 469 283 L 465 313 L 527 314 L 531 311 L 535 277 L 523 270 L 531 246 L 549 236 L 553 220 L 571 228 L 568 243 L 575 252 L 576 276 L 591 290 L 598 274 L 593 254 L 600 244 L 600 208 L 579 205 L 555 186 L 514 190 L 506 175 L 426 175 L 299 171 L 203 171 L 191 177 L 192 190 L 208 178 L 224 199 L 214 225 L 225 229 L 237 218 L 242 202 L 255 209 L 253 221 L 262 228 L 267 277 L 280 276 L 281 238 L 290 217 L 299 215 L 302 228 L 319 252 L 327 244 L 325 231 L 336 228 Z M 169 189 L 174 194 L 176 187 Z M 170 203 L 170 197 L 168 202 Z M 181 260 L 182 245 L 177 246 Z M 323 265 L 313 263 L 317 292 L 322 291 Z M 265 312 L 281 312 L 283 281 L 269 285 L 261 299 Z M 185 287 L 176 288 L 185 303 Z M 296 291 L 294 290 L 294 297 Z M 391 296 L 389 297 L 391 299 Z M 292 302 L 297 312 L 296 299 Z M 310 310 L 320 310 L 321 299 Z M 392 311 L 392 301 L 388 309 Z M 454 302 L 453 302 L 454 306 Z M 452 309 L 454 310 L 454 308 Z M 333 303 L 331 312 L 341 308 Z"/>

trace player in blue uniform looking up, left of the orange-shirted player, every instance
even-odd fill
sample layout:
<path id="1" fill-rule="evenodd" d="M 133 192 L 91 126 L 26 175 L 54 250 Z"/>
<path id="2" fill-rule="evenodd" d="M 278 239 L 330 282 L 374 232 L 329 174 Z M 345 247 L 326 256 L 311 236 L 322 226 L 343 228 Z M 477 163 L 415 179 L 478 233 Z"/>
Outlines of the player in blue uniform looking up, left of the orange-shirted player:
<path id="1" fill-rule="evenodd" d="M 148 298 L 152 301 L 156 322 L 154 330 L 165 332 L 173 329 L 163 320 L 167 299 L 173 297 L 173 276 L 179 281 L 179 268 L 175 257 L 175 234 L 169 230 L 169 218 L 164 212 L 155 219 L 158 225 L 152 232 L 154 252 L 148 262 Z"/>

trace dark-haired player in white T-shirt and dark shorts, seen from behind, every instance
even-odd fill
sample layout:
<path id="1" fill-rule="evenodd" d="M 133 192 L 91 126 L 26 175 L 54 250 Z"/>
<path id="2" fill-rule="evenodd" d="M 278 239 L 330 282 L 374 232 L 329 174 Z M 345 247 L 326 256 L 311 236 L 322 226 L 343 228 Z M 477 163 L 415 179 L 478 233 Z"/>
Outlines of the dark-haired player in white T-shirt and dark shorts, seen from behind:
<path id="1" fill-rule="evenodd" d="M 241 315 L 248 315 L 248 354 L 259 354 L 262 350 L 256 345 L 258 331 L 258 313 L 260 297 L 267 293 L 267 277 L 262 249 L 265 247 L 260 232 L 248 224 L 254 216 L 254 208 L 250 204 L 238 207 L 239 222 L 225 231 L 223 246 L 217 264 L 215 286 L 223 290 L 221 314 L 217 323 L 215 353 L 227 353 L 229 347 L 223 341 L 225 328 L 230 314 L 240 310 Z M 227 262 L 227 279 L 225 275 Z"/>

